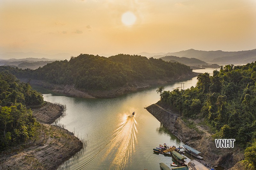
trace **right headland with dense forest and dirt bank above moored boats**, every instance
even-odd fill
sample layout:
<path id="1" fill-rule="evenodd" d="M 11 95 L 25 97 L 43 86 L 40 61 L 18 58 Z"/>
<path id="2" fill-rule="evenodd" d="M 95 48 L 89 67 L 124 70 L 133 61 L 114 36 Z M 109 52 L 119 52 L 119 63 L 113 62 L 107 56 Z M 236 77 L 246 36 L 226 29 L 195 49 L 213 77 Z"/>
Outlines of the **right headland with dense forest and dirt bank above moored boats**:
<path id="1" fill-rule="evenodd" d="M 146 109 L 212 165 L 255 169 L 255 68 L 226 65 L 200 74 L 190 89 L 159 87 L 161 100 Z M 235 147 L 217 148 L 214 139 L 235 139 Z"/>

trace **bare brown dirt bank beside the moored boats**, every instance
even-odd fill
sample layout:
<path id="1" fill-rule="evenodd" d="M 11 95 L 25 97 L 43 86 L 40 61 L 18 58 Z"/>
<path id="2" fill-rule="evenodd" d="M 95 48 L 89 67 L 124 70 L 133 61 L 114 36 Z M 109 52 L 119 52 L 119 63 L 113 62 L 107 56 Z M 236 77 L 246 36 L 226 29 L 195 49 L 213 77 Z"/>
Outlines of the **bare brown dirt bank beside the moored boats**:
<path id="1" fill-rule="evenodd" d="M 199 120 L 193 121 L 196 128 L 189 129 L 179 115 L 161 101 L 146 109 L 182 142 L 202 152 L 204 161 L 200 161 L 201 163 L 206 162 L 214 166 L 231 168 L 238 161 L 244 159 L 244 152 L 236 146 L 236 143 L 234 148 L 216 148 L 213 134 L 208 131 L 207 127 L 201 126 Z"/>

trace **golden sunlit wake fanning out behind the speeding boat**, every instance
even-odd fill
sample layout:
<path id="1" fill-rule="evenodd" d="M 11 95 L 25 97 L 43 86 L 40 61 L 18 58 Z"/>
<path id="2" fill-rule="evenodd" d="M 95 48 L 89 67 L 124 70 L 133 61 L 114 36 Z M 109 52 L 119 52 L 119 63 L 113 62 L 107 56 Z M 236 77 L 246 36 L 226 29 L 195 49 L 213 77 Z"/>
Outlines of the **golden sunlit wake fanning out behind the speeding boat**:
<path id="1" fill-rule="evenodd" d="M 90 167 L 99 153 L 104 153 L 100 156 L 103 162 L 112 162 L 109 169 L 125 169 L 127 162 L 131 161 L 132 152 L 135 152 L 135 143 L 137 144 L 136 134 L 138 131 L 136 124 L 135 115 L 125 115 L 123 122 L 118 125 L 108 143 L 98 149 L 94 156 L 76 169 Z"/>

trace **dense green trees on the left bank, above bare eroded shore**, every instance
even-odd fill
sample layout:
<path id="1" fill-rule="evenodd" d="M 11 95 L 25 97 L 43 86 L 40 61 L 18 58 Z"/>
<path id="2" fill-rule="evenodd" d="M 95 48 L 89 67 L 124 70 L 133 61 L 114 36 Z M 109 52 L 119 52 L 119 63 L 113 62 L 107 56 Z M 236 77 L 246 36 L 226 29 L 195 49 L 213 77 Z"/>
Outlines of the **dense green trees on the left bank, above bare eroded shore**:
<path id="1" fill-rule="evenodd" d="M 35 134 L 36 120 L 26 106 L 42 105 L 41 93 L 32 90 L 28 83 L 0 72 L 0 151 L 24 142 Z"/>

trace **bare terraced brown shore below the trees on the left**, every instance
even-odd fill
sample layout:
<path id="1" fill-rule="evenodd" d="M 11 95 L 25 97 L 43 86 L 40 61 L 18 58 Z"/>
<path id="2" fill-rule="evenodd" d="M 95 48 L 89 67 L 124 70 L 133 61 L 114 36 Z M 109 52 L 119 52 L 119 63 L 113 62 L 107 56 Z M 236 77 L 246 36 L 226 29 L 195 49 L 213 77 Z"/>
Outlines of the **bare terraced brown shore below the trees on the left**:
<path id="1" fill-rule="evenodd" d="M 73 133 L 50 125 L 62 115 L 60 106 L 47 102 L 32 111 L 40 122 L 36 127 L 37 135 L 25 144 L 0 153 L 0 169 L 57 169 L 83 148 L 83 143 Z"/>

